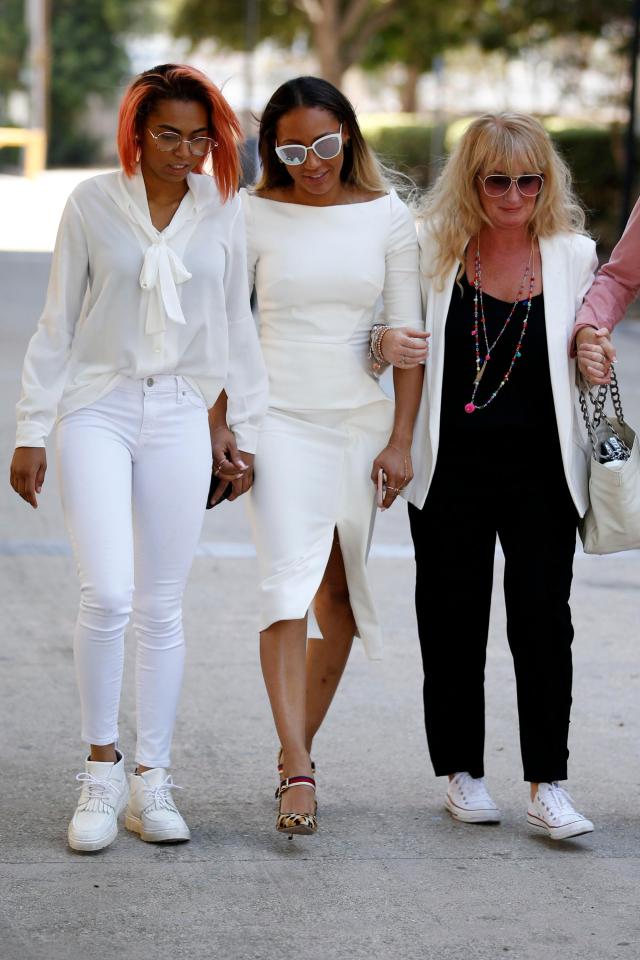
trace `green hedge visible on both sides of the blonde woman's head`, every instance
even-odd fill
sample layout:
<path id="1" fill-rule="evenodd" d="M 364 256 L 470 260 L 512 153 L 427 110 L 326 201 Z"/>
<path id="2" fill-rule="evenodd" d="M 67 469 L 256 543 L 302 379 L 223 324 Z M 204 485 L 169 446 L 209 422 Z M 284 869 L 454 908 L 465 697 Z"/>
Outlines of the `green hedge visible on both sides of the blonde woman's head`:
<path id="1" fill-rule="evenodd" d="M 543 122 L 571 167 L 576 192 L 587 209 L 589 230 L 603 247 L 610 248 L 619 230 L 623 130 L 572 125 L 554 117 Z M 407 173 L 418 187 L 426 187 L 467 123 L 468 119 L 459 119 L 436 128 L 411 115 L 392 114 L 365 116 L 362 128 L 383 162 Z"/>

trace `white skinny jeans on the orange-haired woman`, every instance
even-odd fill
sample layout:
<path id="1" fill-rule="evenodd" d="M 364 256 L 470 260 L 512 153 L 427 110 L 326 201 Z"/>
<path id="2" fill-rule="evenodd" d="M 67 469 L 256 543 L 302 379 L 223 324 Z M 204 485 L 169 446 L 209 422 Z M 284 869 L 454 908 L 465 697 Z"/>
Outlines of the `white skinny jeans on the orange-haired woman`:
<path id="1" fill-rule="evenodd" d="M 135 759 L 168 767 L 184 662 L 182 595 L 211 479 L 205 403 L 182 377 L 127 378 L 63 417 L 57 445 L 80 576 L 74 655 L 82 738 L 118 740 L 133 610 Z"/>

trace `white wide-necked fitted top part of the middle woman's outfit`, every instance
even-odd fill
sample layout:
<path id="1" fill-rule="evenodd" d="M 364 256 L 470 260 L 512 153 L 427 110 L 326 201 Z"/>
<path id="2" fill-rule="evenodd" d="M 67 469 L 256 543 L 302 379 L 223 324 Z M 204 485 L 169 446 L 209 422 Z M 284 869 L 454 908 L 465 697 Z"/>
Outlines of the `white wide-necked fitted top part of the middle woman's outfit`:
<path id="1" fill-rule="evenodd" d="M 384 400 L 370 373 L 371 325 L 424 326 L 406 205 L 394 191 L 327 207 L 240 195 L 270 406 L 345 410 Z"/>

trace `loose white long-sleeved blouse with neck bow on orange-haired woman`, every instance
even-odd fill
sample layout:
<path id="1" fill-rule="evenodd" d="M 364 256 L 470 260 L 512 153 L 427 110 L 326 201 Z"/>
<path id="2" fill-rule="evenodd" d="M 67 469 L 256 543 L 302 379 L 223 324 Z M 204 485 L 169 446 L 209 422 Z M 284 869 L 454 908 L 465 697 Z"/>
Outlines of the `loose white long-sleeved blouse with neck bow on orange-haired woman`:
<path id="1" fill-rule="evenodd" d="M 189 174 L 162 231 L 142 175 L 92 177 L 60 223 L 49 288 L 24 363 L 16 446 L 41 447 L 56 416 L 107 394 L 123 377 L 176 374 L 211 406 L 224 388 L 238 446 L 255 451 L 267 378 L 247 294 L 236 196 Z"/>

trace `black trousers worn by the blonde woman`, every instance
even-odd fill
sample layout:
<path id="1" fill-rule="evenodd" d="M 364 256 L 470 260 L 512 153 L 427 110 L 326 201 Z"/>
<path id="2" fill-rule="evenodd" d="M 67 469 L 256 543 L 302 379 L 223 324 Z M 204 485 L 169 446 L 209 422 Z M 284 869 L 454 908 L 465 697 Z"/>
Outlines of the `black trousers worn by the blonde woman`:
<path id="1" fill-rule="evenodd" d="M 484 775 L 484 670 L 496 535 L 505 555 L 507 637 L 524 779 L 567 776 L 577 511 L 557 457 L 438 463 L 409 505 L 424 712 L 437 776 Z"/>

